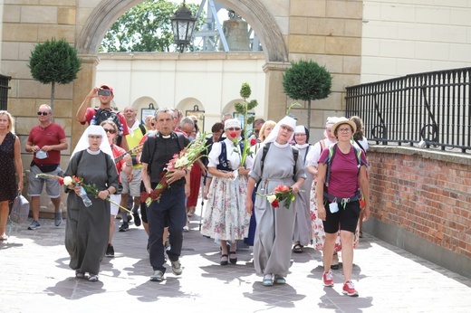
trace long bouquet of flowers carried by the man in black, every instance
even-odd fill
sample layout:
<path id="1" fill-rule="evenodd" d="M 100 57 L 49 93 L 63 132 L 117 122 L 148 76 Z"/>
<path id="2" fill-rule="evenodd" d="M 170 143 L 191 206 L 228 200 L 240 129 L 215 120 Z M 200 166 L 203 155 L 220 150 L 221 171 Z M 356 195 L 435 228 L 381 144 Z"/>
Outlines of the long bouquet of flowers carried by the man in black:
<path id="1" fill-rule="evenodd" d="M 173 155 L 172 159 L 168 161 L 167 166 L 164 168 L 164 171 L 160 174 L 160 181 L 156 188 L 150 194 L 147 192 L 140 193 L 141 201 L 145 201 L 147 206 L 152 204 L 152 201 L 157 200 L 159 202 L 160 194 L 170 187 L 167 183 L 166 175 L 178 169 L 191 170 L 193 163 L 203 156 L 201 153 L 207 149 L 205 145 L 206 137 L 206 133 L 202 134 L 199 138 L 194 139 L 186 149 L 180 151 L 179 154 Z"/>

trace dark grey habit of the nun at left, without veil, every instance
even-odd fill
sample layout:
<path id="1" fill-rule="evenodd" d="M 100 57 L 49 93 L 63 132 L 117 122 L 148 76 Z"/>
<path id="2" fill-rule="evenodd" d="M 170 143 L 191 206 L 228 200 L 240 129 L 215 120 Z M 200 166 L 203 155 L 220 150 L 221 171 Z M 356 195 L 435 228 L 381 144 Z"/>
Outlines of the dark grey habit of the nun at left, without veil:
<path id="1" fill-rule="evenodd" d="M 104 138 L 103 140 L 105 140 Z M 99 151 L 92 155 L 84 150 L 80 164 L 77 159 L 80 153 L 72 156 L 66 176 L 82 177 L 84 183 L 96 185 L 98 190 L 114 186 L 118 189 L 118 172 L 111 156 Z M 106 158 L 108 157 L 108 166 Z M 71 256 L 69 264 L 72 270 L 80 270 L 97 275 L 100 262 L 105 255 L 110 236 L 110 203 L 93 194 L 88 194 L 92 205 L 86 207 L 82 198 L 67 190 L 67 223 L 65 227 L 65 248 Z"/>

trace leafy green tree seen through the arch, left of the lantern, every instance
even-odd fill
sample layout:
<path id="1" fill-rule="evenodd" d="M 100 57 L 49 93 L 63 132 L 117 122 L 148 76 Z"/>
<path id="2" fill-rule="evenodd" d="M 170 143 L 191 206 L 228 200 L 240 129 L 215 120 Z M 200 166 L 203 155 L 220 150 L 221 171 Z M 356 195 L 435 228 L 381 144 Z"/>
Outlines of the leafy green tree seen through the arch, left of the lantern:
<path id="1" fill-rule="evenodd" d="M 131 7 L 111 25 L 100 52 L 169 52 L 173 46 L 170 17 L 179 6 L 166 0 L 149 0 Z M 187 8 L 197 16 L 198 5 Z"/>

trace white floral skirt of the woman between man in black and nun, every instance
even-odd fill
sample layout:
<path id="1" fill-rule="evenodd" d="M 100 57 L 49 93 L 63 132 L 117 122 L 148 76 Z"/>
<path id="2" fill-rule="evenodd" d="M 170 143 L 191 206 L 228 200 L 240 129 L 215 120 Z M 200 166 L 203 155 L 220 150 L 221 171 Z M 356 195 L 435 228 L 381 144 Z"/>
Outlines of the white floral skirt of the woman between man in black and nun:
<path id="1" fill-rule="evenodd" d="M 238 176 L 235 180 L 213 177 L 201 233 L 229 242 L 247 237 L 250 214 L 245 212 L 246 194 L 246 176 Z"/>

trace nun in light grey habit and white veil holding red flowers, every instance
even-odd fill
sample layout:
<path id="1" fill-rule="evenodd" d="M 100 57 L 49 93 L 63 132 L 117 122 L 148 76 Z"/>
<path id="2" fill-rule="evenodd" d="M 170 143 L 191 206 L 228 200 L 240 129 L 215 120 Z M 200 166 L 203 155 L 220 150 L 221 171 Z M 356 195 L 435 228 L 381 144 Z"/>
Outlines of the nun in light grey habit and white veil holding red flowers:
<path id="1" fill-rule="evenodd" d="M 289 142 L 293 138 L 296 120 L 285 117 L 280 120 L 264 146 L 268 151 L 263 161 L 263 153 L 255 156 L 254 166 L 249 173 L 248 188 L 245 200 L 247 213 L 252 212 L 252 192 L 255 183 L 258 185 L 255 197 L 256 232 L 254 244 L 254 265 L 258 274 L 264 275 L 264 286 L 273 286 L 274 283 L 284 284 L 288 274 L 293 242 L 293 227 L 296 217 L 296 207 L 301 199 L 297 193 L 301 190 L 306 177 L 303 161 L 298 157 L 294 162 L 293 149 Z M 263 150 L 262 150 L 263 151 Z M 284 207 L 284 201 L 274 208 L 264 194 L 274 192 L 278 185 L 293 188 L 295 200 L 289 208 Z M 258 195 L 262 194 L 262 195 Z"/>

